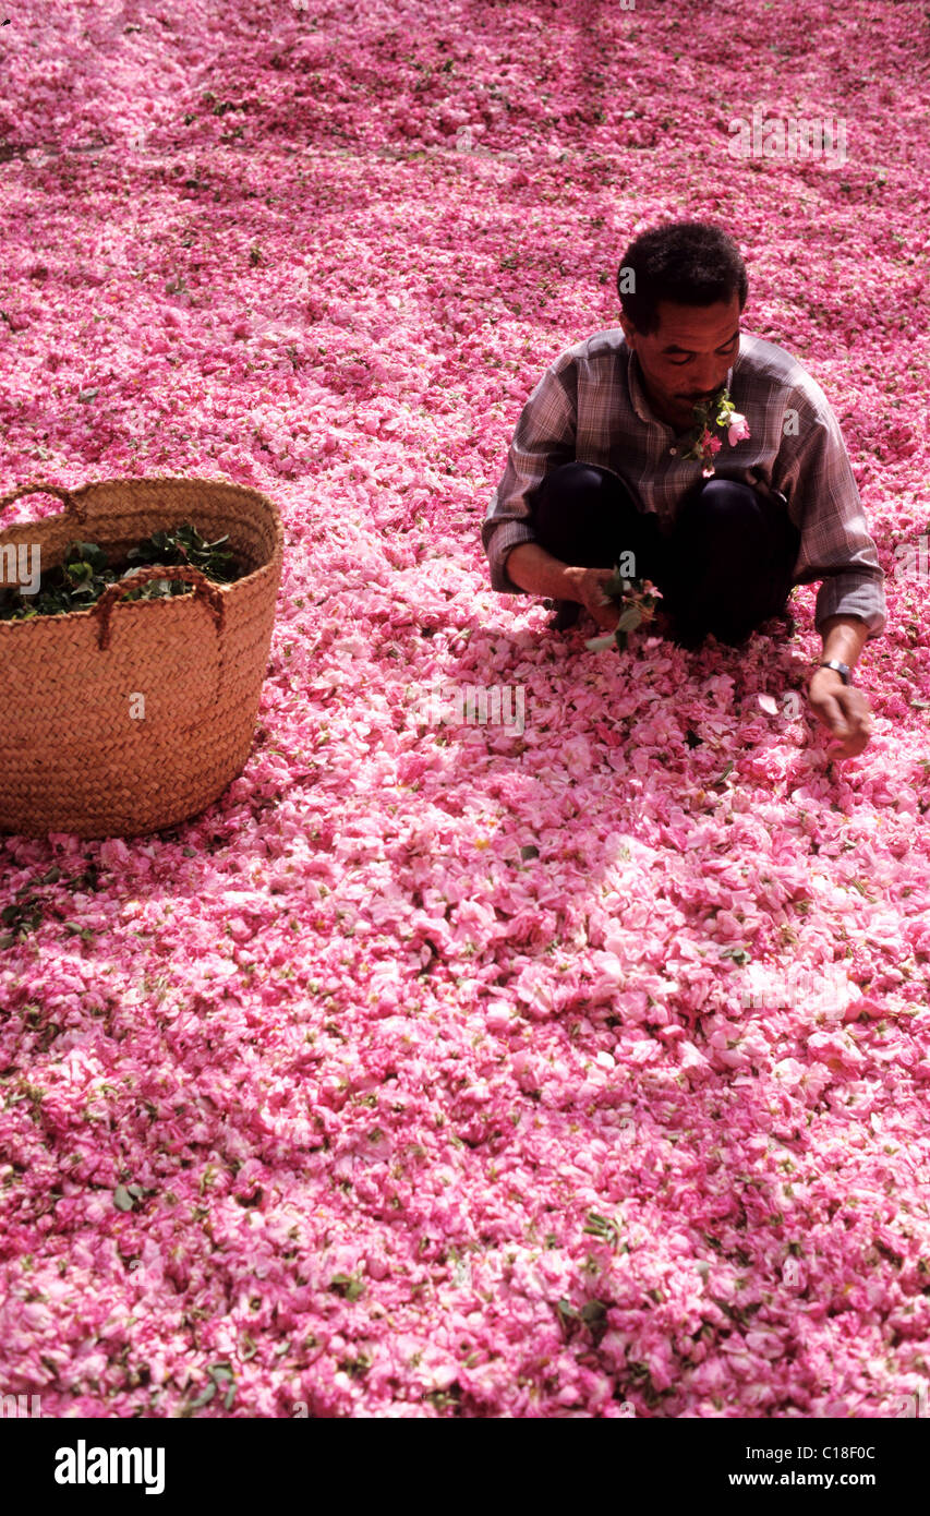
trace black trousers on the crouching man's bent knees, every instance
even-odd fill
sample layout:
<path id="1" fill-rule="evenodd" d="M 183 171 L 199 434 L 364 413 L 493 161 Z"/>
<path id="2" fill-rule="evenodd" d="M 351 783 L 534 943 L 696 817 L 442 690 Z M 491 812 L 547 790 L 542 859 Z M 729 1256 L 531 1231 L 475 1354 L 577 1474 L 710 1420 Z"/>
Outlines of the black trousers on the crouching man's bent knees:
<path id="1" fill-rule="evenodd" d="M 626 481 L 598 464 L 562 464 L 530 505 L 539 546 L 562 562 L 613 568 L 633 553 L 630 578 L 662 591 L 662 609 L 686 643 L 707 632 L 744 641 L 783 611 L 794 584 L 801 534 L 783 505 L 733 479 L 698 481 L 668 537 Z M 580 611 L 566 606 L 559 625 L 571 626 Z"/>

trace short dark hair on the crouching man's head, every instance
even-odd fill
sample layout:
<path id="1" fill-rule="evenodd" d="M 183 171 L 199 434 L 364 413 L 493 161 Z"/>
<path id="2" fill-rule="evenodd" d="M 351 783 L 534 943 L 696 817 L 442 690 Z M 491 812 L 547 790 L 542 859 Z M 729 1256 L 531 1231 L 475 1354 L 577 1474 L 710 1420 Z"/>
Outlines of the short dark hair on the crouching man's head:
<path id="1" fill-rule="evenodd" d="M 659 300 L 716 305 L 738 294 L 742 311 L 748 279 L 739 249 L 722 227 L 668 221 L 630 243 L 616 273 L 616 293 L 627 320 L 648 337 L 659 327 Z"/>

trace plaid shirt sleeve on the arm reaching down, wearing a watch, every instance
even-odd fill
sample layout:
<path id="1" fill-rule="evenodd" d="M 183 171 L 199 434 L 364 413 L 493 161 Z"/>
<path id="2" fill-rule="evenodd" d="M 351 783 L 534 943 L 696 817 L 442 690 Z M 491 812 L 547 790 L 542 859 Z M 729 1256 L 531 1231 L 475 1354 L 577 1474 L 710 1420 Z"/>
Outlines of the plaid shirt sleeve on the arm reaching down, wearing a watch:
<path id="1" fill-rule="evenodd" d="M 795 393 L 797 438 L 786 437 L 776 468 L 776 485 L 788 497 L 801 532 L 795 584 L 821 579 L 815 623 L 830 615 L 857 615 L 880 637 L 888 615 L 885 572 L 872 541 L 859 487 L 839 423 L 818 385 L 816 396 Z"/>

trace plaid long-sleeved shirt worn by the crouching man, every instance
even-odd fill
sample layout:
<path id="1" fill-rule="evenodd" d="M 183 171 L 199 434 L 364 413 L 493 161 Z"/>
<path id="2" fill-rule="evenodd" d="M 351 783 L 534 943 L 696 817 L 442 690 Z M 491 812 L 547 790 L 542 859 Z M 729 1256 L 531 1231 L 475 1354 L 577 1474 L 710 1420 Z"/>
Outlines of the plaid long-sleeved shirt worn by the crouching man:
<path id="1" fill-rule="evenodd" d="M 829 615 L 857 615 L 869 640 L 879 637 L 886 625 L 885 573 L 824 391 L 791 353 L 747 332 L 727 390 L 751 435 L 730 447 L 724 434 L 716 478 L 783 497 L 801 532 L 794 582 L 822 579 L 818 628 Z M 679 502 L 700 479 L 701 464 L 682 458 L 691 435 L 676 435 L 650 409 L 639 359 L 621 327 L 568 347 L 530 394 L 488 506 L 482 543 L 491 588 L 527 593 L 507 578 L 504 559 L 520 543 L 536 541 L 530 496 L 573 458 L 621 475 L 668 535 Z"/>

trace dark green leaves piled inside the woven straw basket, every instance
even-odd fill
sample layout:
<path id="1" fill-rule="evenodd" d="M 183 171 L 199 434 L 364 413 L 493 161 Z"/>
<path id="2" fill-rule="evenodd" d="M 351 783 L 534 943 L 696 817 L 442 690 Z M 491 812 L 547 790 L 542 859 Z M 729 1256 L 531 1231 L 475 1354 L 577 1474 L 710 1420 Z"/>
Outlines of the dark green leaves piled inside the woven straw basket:
<path id="1" fill-rule="evenodd" d="M 185 522 L 170 532 L 153 532 L 126 555 L 130 568 L 117 573 L 97 543 L 68 543 L 59 567 L 42 575 L 38 594 L 23 594 L 17 585 L 0 587 L 0 622 L 26 622 L 36 615 L 65 615 L 88 611 L 111 584 L 132 579 L 150 564 L 189 564 L 208 579 L 232 584 L 242 568 L 227 546 L 229 537 L 209 543 L 195 526 Z M 161 600 L 173 594 L 191 594 L 183 579 L 150 579 L 126 593 L 127 600 Z"/>

